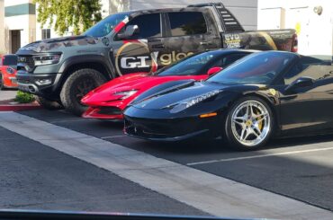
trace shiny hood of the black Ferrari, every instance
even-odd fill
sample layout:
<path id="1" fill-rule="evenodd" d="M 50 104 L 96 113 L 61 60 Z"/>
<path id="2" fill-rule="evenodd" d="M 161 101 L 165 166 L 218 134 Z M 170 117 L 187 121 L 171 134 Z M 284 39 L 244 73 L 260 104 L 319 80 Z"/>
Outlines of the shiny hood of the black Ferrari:
<path id="1" fill-rule="evenodd" d="M 198 82 L 195 84 L 189 84 L 188 87 L 182 88 L 181 90 L 172 89 L 170 92 L 163 92 L 162 94 L 157 92 L 155 95 L 148 97 L 148 99 L 134 104 L 133 107 L 149 110 L 164 109 L 167 106 L 172 106 L 181 101 L 195 98 L 209 92 L 223 91 L 226 87 L 228 86 L 223 84 Z"/>

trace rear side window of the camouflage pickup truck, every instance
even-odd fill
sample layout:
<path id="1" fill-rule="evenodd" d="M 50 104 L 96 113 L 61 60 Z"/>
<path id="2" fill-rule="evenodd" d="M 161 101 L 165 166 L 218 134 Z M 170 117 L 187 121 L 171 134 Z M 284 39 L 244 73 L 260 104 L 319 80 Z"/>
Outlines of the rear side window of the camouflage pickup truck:
<path id="1" fill-rule="evenodd" d="M 202 34 L 207 32 L 206 21 L 199 12 L 168 13 L 171 36 Z"/>

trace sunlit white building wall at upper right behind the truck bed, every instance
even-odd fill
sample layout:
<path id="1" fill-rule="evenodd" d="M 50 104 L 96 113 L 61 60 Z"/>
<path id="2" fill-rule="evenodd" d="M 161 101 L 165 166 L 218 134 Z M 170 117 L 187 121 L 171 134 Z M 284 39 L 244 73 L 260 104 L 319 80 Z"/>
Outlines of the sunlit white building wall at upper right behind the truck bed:
<path id="1" fill-rule="evenodd" d="M 314 12 L 318 6 L 321 14 Z M 333 57 L 332 0 L 258 0 L 257 21 L 258 29 L 295 29 L 300 54 Z"/>

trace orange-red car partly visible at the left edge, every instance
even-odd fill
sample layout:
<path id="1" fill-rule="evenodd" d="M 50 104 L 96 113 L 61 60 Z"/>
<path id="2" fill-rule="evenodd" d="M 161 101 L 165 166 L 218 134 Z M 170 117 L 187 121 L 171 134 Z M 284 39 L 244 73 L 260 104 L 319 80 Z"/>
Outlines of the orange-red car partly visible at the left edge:
<path id="1" fill-rule="evenodd" d="M 16 88 L 16 55 L 0 56 L 0 90 L 4 88 Z"/>

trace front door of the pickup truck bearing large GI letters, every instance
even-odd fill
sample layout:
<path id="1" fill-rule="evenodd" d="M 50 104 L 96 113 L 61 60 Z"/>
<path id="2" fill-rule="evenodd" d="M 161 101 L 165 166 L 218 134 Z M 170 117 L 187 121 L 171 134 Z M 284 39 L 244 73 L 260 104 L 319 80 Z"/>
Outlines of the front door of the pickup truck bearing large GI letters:
<path id="1" fill-rule="evenodd" d="M 118 75 L 138 72 L 154 72 L 161 66 L 157 57 L 166 53 L 161 13 L 139 14 L 122 27 L 121 33 L 129 25 L 137 25 L 136 31 L 127 39 L 114 37 L 112 61 Z"/>

